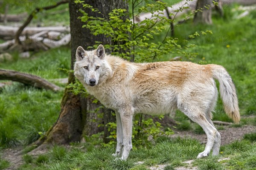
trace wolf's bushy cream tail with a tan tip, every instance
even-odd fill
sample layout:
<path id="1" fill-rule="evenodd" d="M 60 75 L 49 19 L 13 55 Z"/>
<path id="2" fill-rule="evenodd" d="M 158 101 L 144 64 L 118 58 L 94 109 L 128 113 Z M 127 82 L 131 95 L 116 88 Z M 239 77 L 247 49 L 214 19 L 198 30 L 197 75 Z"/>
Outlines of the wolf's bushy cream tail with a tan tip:
<path id="1" fill-rule="evenodd" d="M 220 83 L 221 99 L 224 103 L 225 112 L 235 123 L 239 123 L 240 113 L 236 96 L 236 87 L 230 75 L 221 65 L 212 65 L 212 71 L 212 77 L 217 79 Z"/>

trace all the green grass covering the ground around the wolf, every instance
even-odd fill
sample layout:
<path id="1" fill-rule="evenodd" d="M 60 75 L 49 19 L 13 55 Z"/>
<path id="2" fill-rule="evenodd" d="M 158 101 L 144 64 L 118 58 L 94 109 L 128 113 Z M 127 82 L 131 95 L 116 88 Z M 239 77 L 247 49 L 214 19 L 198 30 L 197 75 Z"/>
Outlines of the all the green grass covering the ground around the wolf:
<path id="1" fill-rule="evenodd" d="M 188 51 L 198 53 L 198 57 L 194 59 L 195 62 L 205 60 L 227 68 L 236 84 L 239 97 L 239 107 L 243 116 L 240 125 L 255 125 L 255 117 L 247 118 L 246 116 L 256 114 L 256 12 L 250 12 L 247 17 L 241 19 L 235 18 L 241 11 L 225 12 L 224 18 L 213 16 L 212 26 L 195 26 L 187 22 L 175 29 L 175 35 L 187 39 L 187 35 L 195 31 L 212 30 L 213 34 L 210 37 L 199 37 L 196 39 L 197 46 Z M 49 21 L 47 17 L 42 18 L 44 23 Z M 64 15 L 59 20 L 60 22 L 68 20 L 68 17 Z M 36 74 L 49 81 L 67 77 L 65 71 L 59 69 L 69 69 L 70 50 L 67 47 L 41 51 L 32 54 L 29 59 L 20 59 L 15 53 L 12 55 L 16 56 L 15 60 L 1 62 L 0 68 Z M 161 60 L 169 60 L 172 57 L 175 57 L 175 54 L 164 56 Z M 0 92 L 1 149 L 18 145 L 26 146 L 46 133 L 58 117 L 61 96 L 62 92 L 38 90 L 19 83 L 3 88 Z M 177 111 L 175 119 L 181 122 L 177 128 L 194 129 L 195 132 L 202 133 L 201 128 L 191 124 L 183 113 Z M 218 100 L 214 119 L 230 121 L 224 113 L 220 100 Z M 256 133 L 245 135 L 244 138 L 243 141 L 222 146 L 219 157 L 210 156 L 207 159 L 196 160 L 192 164 L 201 170 L 253 170 L 256 168 Z M 20 167 L 20 170 L 148 170 L 150 166 L 157 164 L 166 164 L 165 170 L 172 170 L 174 167 L 188 166 L 183 161 L 195 159 L 202 150 L 204 145 L 195 139 L 162 138 L 158 139 L 152 148 L 134 147 L 128 161 L 115 161 L 111 157 L 114 147 L 101 146 L 92 149 L 83 144 L 75 144 L 71 149 L 67 149 L 55 146 L 49 153 L 43 155 L 23 155 L 25 164 Z M 217 161 L 225 157 L 230 159 Z M 144 163 L 138 165 L 137 161 Z M 8 161 L 0 159 L 0 169 L 8 166 Z"/>

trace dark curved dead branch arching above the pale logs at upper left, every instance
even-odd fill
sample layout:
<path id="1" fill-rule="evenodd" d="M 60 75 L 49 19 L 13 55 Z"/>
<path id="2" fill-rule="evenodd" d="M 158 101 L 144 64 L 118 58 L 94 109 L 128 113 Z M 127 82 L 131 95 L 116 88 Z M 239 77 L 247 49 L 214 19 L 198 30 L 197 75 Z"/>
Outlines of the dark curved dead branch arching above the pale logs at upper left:
<path id="1" fill-rule="evenodd" d="M 32 13 L 29 15 L 29 17 L 27 18 L 26 22 L 23 23 L 23 25 L 18 29 L 18 31 L 15 34 L 15 42 L 16 43 L 21 43 L 19 40 L 20 34 L 22 33 L 23 29 L 29 25 L 29 23 L 31 22 L 31 20 L 33 19 L 34 15 L 37 14 L 39 11 L 41 10 L 48 10 L 48 9 L 52 9 L 55 8 L 61 4 L 64 3 L 68 3 L 70 0 L 61 0 L 58 3 L 56 3 L 55 5 L 52 6 L 47 6 L 47 7 L 43 7 L 43 8 L 35 8 L 34 11 L 32 11 Z"/>

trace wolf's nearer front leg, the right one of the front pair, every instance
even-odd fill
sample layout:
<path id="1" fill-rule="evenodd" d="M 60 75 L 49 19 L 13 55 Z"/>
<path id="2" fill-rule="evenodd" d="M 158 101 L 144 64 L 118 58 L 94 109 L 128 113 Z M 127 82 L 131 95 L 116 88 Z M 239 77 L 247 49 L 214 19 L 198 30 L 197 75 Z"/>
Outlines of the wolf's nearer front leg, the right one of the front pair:
<path id="1" fill-rule="evenodd" d="M 122 122 L 122 146 L 123 146 L 121 159 L 123 160 L 128 158 L 129 153 L 132 149 L 132 143 L 131 143 L 132 116 L 133 116 L 133 112 L 131 111 L 120 112 L 120 118 Z"/>

